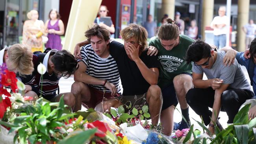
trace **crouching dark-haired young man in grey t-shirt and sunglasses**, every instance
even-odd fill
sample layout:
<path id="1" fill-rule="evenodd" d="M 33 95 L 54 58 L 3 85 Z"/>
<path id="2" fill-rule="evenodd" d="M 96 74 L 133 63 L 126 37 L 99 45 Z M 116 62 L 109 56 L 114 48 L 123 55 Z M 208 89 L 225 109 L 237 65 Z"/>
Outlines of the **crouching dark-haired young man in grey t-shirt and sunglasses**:
<path id="1" fill-rule="evenodd" d="M 209 124 L 211 133 L 215 133 L 214 123 L 222 129 L 217 120 L 220 111 L 227 113 L 229 124 L 233 123 L 239 107 L 254 95 L 236 60 L 234 65 L 224 66 L 225 54 L 224 51 L 213 50 L 209 44 L 200 40 L 191 44 L 186 54 L 187 63 L 194 62 L 192 77 L 195 87 L 187 92 L 186 100 L 202 116 L 204 124 Z M 203 74 L 208 80 L 202 79 Z"/>

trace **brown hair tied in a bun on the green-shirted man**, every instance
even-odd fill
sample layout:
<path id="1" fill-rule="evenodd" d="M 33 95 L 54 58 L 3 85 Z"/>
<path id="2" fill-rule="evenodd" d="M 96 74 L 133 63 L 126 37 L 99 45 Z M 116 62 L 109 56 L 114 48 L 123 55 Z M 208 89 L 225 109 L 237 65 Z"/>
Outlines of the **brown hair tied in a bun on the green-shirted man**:
<path id="1" fill-rule="evenodd" d="M 177 39 L 180 35 L 178 24 L 171 18 L 166 18 L 158 31 L 158 37 L 162 40 Z"/>

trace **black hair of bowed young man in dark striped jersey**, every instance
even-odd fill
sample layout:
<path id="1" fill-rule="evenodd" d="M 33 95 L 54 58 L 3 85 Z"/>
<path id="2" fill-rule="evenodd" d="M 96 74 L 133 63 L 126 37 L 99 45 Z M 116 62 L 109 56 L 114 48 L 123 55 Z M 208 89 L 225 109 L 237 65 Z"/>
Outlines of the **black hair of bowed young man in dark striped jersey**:
<path id="1" fill-rule="evenodd" d="M 59 50 L 51 57 L 54 68 L 69 78 L 78 69 L 78 62 L 74 55 L 67 50 Z"/>

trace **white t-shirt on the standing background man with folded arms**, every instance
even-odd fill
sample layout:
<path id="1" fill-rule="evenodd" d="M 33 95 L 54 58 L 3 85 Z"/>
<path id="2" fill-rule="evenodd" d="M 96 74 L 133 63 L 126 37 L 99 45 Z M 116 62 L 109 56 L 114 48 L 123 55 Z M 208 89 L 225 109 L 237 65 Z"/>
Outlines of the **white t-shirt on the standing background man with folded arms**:
<path id="1" fill-rule="evenodd" d="M 223 17 L 217 16 L 214 17 L 211 22 L 211 27 L 214 24 L 226 24 L 223 28 L 214 28 L 213 29 L 213 35 L 223 35 L 228 32 L 228 17 L 224 15 Z"/>

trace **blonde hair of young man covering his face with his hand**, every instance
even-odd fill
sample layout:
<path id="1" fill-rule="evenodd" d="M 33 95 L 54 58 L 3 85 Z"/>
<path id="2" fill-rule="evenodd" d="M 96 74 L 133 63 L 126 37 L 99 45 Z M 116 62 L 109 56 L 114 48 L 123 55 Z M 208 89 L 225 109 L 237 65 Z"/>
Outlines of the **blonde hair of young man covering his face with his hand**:
<path id="1" fill-rule="evenodd" d="M 120 31 L 120 35 L 124 41 L 133 37 L 135 41 L 141 45 L 142 50 L 145 50 L 148 46 L 148 32 L 145 28 L 137 24 L 129 24 L 126 28 Z"/>

